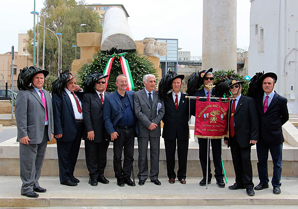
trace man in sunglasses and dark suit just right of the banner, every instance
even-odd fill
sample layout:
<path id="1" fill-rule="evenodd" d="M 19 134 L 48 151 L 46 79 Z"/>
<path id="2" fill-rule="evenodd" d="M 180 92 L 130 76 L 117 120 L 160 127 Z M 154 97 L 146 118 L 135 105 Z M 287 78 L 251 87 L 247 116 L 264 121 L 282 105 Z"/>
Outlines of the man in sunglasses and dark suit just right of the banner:
<path id="1" fill-rule="evenodd" d="M 234 100 L 229 110 L 229 138 L 224 143 L 230 146 L 235 171 L 235 183 L 230 190 L 246 189 L 246 194 L 254 196 L 251 146 L 258 141 L 259 123 L 255 102 L 241 94 L 244 81 L 232 79 L 228 86 Z"/>

